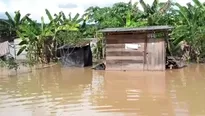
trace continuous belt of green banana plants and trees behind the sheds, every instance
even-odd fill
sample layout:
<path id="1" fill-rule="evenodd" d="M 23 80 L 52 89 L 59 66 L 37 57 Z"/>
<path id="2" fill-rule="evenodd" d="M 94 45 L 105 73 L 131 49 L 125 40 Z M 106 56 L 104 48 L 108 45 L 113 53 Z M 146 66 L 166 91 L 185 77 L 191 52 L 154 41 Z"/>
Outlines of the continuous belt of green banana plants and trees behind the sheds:
<path id="1" fill-rule="evenodd" d="M 171 0 L 163 3 L 154 0 L 151 5 L 143 0 L 136 3 L 119 2 L 111 7 L 89 7 L 85 14 L 76 14 L 74 17 L 63 12 L 51 15 L 46 9 L 49 23 L 44 23 L 42 17 L 40 24 L 32 20 L 29 14 L 21 18 L 17 11 L 12 18 L 6 12 L 8 19 L 0 20 L 0 37 L 21 38 L 22 47 L 18 55 L 26 50 L 31 62 L 49 63 L 56 61 L 57 47 L 63 44 L 76 45 L 84 40 L 82 38 L 98 38 L 93 56 L 102 58 L 103 39 L 97 33 L 102 28 L 171 25 L 174 30 L 168 43 L 168 55 L 203 62 L 205 4 L 198 0 L 193 0 L 193 3 L 181 6 Z"/>

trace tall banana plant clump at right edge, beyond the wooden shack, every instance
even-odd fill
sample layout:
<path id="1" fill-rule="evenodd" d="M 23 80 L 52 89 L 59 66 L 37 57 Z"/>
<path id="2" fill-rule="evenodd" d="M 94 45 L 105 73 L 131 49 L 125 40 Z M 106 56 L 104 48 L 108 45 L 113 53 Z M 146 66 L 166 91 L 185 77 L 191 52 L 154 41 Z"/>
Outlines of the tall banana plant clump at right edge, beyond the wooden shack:
<path id="1" fill-rule="evenodd" d="M 205 7 L 199 0 L 193 0 L 193 2 L 194 5 L 188 3 L 186 6 L 176 3 L 179 8 L 179 21 L 172 33 L 174 38 L 172 44 L 173 50 L 177 50 L 181 42 L 187 42 L 190 46 L 190 58 L 199 60 L 201 57 L 205 57 L 202 54 L 205 50 Z"/>

